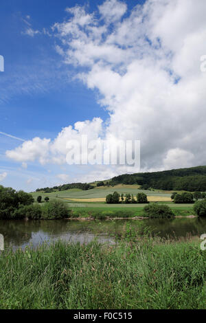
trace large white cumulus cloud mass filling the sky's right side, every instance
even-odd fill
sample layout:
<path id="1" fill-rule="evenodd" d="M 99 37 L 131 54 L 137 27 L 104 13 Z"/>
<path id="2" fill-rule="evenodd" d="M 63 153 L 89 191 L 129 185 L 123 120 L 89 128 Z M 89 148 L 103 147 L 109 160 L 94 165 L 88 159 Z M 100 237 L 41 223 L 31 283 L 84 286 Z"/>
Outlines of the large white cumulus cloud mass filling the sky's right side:
<path id="1" fill-rule="evenodd" d="M 109 120 L 62 129 L 46 145 L 49 159 L 63 164 L 67 139 L 89 133 L 141 140 L 142 170 L 206 164 L 206 73 L 200 69 L 206 54 L 205 0 L 148 0 L 130 12 L 124 1 L 106 0 L 98 10 L 67 8 L 69 17 L 53 31 L 58 53 L 78 67 L 85 86 L 99 91 Z M 8 157 L 46 161 L 37 146 L 36 153 L 29 149 L 33 141 L 8 151 Z M 126 169 L 117 166 L 114 172 L 120 170 Z"/>

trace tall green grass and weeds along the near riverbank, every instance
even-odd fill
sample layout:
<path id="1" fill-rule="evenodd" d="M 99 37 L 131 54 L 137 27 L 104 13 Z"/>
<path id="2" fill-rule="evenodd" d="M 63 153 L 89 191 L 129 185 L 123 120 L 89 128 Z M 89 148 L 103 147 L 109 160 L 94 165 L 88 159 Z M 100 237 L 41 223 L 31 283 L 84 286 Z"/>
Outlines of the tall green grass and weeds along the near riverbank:
<path id="1" fill-rule="evenodd" d="M 205 252 L 195 241 L 41 245 L 0 256 L 1 309 L 205 309 Z"/>

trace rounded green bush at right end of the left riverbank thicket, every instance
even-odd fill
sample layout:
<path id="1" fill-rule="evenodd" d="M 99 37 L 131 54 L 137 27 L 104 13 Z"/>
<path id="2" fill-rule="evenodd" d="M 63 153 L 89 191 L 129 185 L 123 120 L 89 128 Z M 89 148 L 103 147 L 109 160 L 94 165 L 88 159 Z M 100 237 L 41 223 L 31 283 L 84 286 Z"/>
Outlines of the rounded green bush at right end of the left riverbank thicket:
<path id="1" fill-rule="evenodd" d="M 69 210 L 65 203 L 53 200 L 43 205 L 42 217 L 43 219 L 64 219 L 69 217 Z"/>

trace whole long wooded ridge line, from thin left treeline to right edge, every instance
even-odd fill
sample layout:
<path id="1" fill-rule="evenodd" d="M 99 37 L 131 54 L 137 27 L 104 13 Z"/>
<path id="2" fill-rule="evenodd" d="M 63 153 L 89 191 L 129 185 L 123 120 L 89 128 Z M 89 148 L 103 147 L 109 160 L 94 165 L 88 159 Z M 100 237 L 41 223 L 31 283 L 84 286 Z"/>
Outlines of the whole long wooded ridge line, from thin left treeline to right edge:
<path id="1" fill-rule="evenodd" d="M 115 186 L 117 184 L 140 185 L 142 189 L 156 188 L 159 190 L 187 190 L 189 192 L 206 191 L 206 166 L 161 170 L 159 172 L 137 172 L 115 176 L 106 181 L 93 183 L 68 183 L 53 188 L 37 188 L 36 192 L 55 192 L 78 188 L 90 190 L 95 186 Z M 94 185 L 95 184 L 95 185 Z"/>

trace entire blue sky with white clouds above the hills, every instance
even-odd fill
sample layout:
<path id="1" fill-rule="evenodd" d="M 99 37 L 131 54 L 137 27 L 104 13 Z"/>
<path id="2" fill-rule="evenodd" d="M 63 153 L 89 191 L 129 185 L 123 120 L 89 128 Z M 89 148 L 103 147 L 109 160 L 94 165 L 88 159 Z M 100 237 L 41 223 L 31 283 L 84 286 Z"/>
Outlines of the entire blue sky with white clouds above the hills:
<path id="1" fill-rule="evenodd" d="M 57 140 L 63 128 L 67 139 L 84 129 L 91 139 L 104 133 L 106 138 L 141 140 L 141 170 L 205 164 L 196 148 L 197 143 L 204 147 L 205 140 L 204 118 L 196 133 L 205 99 L 203 92 L 197 95 L 205 80 L 198 68 L 206 52 L 200 32 L 204 1 L 196 7 L 179 0 L 158 5 L 152 0 L 1 2 L 2 185 L 31 191 L 135 171 L 68 166 L 62 161 L 62 140 Z M 193 87 L 190 75 L 196 76 Z M 176 111 L 172 116 L 171 109 Z M 165 129 L 168 139 L 163 140 Z M 46 148 L 44 138 L 50 140 Z"/>

